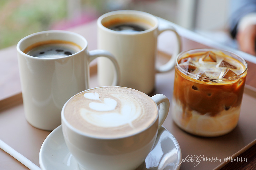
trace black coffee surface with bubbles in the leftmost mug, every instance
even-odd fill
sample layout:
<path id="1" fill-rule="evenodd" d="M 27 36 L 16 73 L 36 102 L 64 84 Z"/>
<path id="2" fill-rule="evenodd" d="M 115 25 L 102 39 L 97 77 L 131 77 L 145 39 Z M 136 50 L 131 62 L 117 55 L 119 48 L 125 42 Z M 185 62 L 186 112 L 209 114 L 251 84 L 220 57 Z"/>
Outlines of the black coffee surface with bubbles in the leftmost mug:
<path id="1" fill-rule="evenodd" d="M 38 58 L 60 58 L 72 55 L 82 48 L 69 41 L 50 40 L 42 41 L 24 50 L 24 53 Z"/>

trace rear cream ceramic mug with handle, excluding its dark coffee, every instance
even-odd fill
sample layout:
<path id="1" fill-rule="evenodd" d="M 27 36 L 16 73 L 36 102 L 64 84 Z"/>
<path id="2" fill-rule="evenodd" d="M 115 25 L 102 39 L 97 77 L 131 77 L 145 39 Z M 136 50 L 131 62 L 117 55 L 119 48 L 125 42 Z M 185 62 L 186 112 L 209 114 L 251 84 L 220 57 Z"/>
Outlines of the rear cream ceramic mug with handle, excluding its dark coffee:
<path id="1" fill-rule="evenodd" d="M 114 31 L 106 27 L 111 22 L 135 20 L 147 23 L 150 28 L 135 33 Z M 132 22 L 132 21 L 131 21 Z M 157 37 L 163 31 L 173 31 L 177 36 L 177 56 L 181 49 L 181 39 L 172 26 L 159 27 L 157 17 L 142 11 L 120 10 L 106 13 L 98 18 L 98 49 L 111 52 L 121 69 L 120 86 L 133 88 L 149 94 L 155 85 L 155 73 L 167 72 L 175 65 L 175 57 L 164 65 L 155 67 Z M 171 48 L 171 47 L 170 47 Z M 98 78 L 101 86 L 111 85 L 114 67 L 104 58 L 98 59 Z"/>

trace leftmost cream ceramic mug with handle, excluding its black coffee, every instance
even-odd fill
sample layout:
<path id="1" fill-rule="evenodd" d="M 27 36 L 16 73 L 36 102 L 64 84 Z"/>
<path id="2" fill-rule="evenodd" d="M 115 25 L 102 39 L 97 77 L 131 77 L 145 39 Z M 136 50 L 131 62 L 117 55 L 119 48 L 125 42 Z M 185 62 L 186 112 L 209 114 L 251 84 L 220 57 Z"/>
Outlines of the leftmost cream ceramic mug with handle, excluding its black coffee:
<path id="1" fill-rule="evenodd" d="M 38 58 L 23 51 L 38 42 L 63 40 L 82 49 L 60 58 Z M 87 50 L 86 39 L 69 31 L 43 31 L 24 37 L 17 44 L 23 105 L 27 121 L 34 127 L 53 130 L 61 124 L 61 109 L 73 95 L 89 87 L 89 63 L 99 56 L 115 65 L 113 85 L 118 85 L 119 67 L 104 50 Z"/>

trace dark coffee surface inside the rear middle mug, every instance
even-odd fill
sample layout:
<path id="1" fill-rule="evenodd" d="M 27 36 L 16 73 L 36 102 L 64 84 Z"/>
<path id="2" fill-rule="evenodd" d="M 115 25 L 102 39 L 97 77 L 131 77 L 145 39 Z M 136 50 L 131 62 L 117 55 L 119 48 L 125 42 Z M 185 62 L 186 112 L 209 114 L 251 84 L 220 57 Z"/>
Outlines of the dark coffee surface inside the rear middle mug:
<path id="1" fill-rule="evenodd" d="M 137 25 L 133 23 L 124 23 L 124 24 L 118 24 L 109 27 L 109 29 L 112 29 L 114 31 L 120 31 L 120 32 L 126 32 L 126 33 L 133 33 L 133 32 L 140 32 L 145 31 L 148 28 L 142 25 Z"/>

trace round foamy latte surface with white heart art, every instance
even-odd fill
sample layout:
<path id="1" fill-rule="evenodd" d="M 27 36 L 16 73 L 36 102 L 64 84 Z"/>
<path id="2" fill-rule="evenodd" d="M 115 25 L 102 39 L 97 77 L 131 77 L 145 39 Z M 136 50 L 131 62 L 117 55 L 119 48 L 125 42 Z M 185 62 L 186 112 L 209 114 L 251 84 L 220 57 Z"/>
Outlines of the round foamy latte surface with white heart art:
<path id="1" fill-rule="evenodd" d="M 97 137 L 123 137 L 144 130 L 157 117 L 157 106 L 146 94 L 125 87 L 100 87 L 71 98 L 67 122 Z"/>

